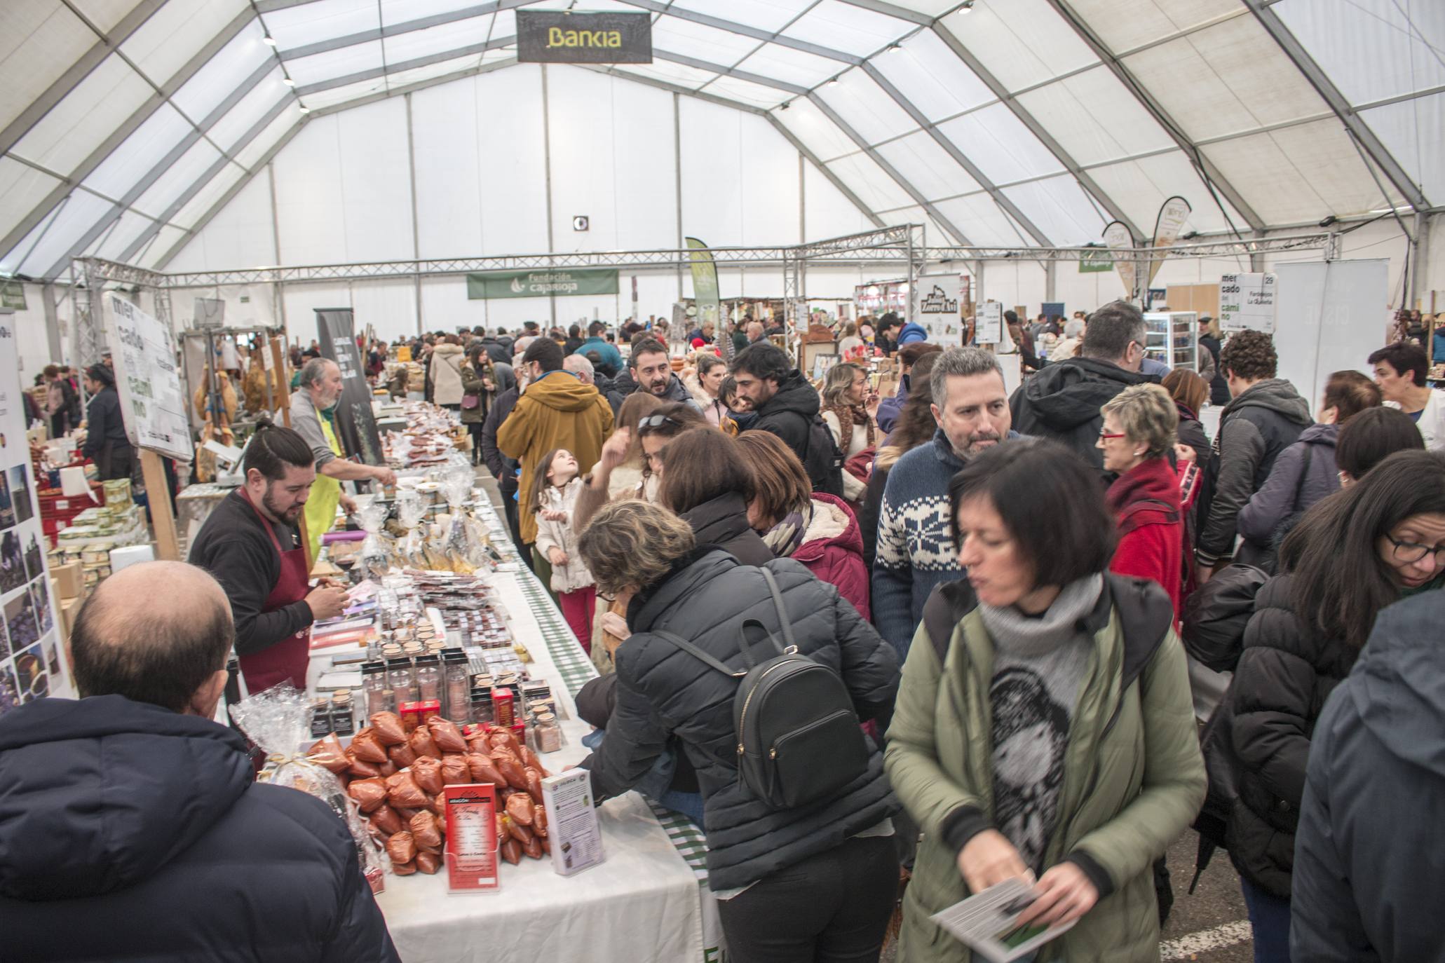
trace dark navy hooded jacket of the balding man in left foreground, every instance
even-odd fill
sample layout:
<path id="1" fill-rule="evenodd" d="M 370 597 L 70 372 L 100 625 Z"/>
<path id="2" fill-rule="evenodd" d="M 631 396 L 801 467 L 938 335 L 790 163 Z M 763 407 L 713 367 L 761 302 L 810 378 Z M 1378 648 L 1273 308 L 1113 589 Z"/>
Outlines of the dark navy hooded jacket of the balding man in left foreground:
<path id="1" fill-rule="evenodd" d="M 0 719 L 4 959 L 397 960 L 345 824 L 246 741 L 121 696 Z"/>

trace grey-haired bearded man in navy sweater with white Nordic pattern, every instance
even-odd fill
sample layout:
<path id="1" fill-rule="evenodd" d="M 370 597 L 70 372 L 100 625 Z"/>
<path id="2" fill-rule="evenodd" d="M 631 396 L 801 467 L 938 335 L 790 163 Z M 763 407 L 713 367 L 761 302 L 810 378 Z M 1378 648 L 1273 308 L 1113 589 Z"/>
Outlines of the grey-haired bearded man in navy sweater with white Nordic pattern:
<path id="1" fill-rule="evenodd" d="M 873 621 L 900 663 L 933 586 L 964 578 L 948 520 L 948 481 L 990 445 L 1022 437 L 1010 430 L 1003 368 L 987 351 L 942 352 L 931 387 L 938 432 L 893 465 L 879 511 Z"/>

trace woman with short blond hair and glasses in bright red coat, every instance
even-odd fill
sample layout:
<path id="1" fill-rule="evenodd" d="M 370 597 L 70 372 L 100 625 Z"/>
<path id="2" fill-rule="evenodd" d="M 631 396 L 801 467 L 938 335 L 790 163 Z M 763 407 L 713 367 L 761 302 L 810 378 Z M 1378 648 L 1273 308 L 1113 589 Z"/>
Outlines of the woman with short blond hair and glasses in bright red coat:
<path id="1" fill-rule="evenodd" d="M 1183 513 L 1179 474 L 1169 463 L 1179 413 L 1157 384 L 1124 388 L 1104 409 L 1098 448 L 1104 471 L 1118 479 L 1108 507 L 1118 523 L 1118 547 L 1110 572 L 1153 579 L 1169 593 L 1179 616 L 1183 592 Z"/>

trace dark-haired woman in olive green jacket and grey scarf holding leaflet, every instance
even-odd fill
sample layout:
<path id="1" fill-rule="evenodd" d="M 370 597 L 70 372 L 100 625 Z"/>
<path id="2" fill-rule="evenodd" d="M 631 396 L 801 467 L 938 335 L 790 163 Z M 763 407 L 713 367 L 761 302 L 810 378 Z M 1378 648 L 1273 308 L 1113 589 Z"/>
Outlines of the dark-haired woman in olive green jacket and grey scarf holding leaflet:
<path id="1" fill-rule="evenodd" d="M 1025 876 L 1025 921 L 1075 923 L 1038 960 L 1157 960 L 1152 865 L 1205 791 L 1169 596 L 1107 573 L 1104 492 L 1064 448 L 985 450 L 949 505 L 968 578 L 929 598 L 887 733 L 923 832 L 899 959 L 968 963 L 929 917 Z"/>

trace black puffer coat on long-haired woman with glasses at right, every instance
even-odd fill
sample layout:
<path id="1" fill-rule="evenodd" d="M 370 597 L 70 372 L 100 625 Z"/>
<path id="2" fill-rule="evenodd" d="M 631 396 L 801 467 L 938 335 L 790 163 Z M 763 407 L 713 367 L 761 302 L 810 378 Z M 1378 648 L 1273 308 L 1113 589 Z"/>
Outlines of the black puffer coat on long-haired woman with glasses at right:
<path id="1" fill-rule="evenodd" d="M 1360 651 L 1327 640 L 1295 615 L 1295 576 L 1264 583 L 1244 629 L 1230 703 L 1238 800 L 1230 816 L 1230 859 L 1254 885 L 1289 898 L 1305 762 L 1325 697 Z"/>

